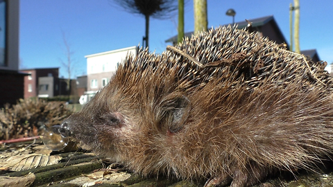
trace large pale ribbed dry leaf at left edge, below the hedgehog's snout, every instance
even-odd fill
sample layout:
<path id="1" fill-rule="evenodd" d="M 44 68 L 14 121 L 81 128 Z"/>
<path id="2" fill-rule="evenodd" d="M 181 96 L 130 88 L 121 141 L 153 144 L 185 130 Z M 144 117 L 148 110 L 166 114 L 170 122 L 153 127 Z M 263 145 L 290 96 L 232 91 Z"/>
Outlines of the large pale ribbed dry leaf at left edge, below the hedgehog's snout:
<path id="1" fill-rule="evenodd" d="M 10 157 L 0 168 L 8 168 L 12 171 L 28 170 L 31 168 L 49 166 L 58 163 L 62 157 L 44 154 L 24 154 Z M 3 163 L 1 163 L 3 164 Z"/>

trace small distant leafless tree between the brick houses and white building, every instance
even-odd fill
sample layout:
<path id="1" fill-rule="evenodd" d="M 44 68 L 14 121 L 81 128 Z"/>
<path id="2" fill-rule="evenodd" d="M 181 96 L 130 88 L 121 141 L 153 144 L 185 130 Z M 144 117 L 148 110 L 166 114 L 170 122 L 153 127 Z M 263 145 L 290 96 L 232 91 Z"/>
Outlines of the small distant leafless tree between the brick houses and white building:
<path id="1" fill-rule="evenodd" d="M 70 89 L 70 86 L 71 86 L 71 73 L 73 72 L 73 66 L 74 66 L 74 60 L 72 58 L 72 55 L 74 54 L 74 51 L 71 51 L 71 46 L 70 44 L 68 43 L 67 41 L 67 38 L 66 38 L 66 35 L 65 35 L 65 32 L 62 31 L 62 42 L 64 42 L 64 45 L 65 45 L 65 57 L 66 57 L 66 60 L 62 60 L 60 58 L 60 62 L 62 64 L 62 66 L 65 67 L 66 69 L 66 72 L 67 72 L 67 75 L 68 75 L 68 78 L 66 80 L 66 83 L 67 83 L 67 91 L 69 91 Z"/>

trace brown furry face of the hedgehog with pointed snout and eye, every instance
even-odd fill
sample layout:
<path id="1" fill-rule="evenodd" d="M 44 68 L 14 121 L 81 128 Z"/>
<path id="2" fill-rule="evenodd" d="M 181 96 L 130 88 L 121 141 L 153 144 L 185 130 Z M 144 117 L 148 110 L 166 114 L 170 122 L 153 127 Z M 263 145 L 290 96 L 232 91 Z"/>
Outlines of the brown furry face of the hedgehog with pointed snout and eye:
<path id="1" fill-rule="evenodd" d="M 108 157 L 118 157 L 115 147 L 119 142 L 126 141 L 126 134 L 133 134 L 133 125 L 126 112 L 119 112 L 119 99 L 110 94 L 116 91 L 109 93 L 109 89 L 102 89 L 80 112 L 63 121 L 59 132 L 62 136 L 76 139 L 83 148 Z"/>

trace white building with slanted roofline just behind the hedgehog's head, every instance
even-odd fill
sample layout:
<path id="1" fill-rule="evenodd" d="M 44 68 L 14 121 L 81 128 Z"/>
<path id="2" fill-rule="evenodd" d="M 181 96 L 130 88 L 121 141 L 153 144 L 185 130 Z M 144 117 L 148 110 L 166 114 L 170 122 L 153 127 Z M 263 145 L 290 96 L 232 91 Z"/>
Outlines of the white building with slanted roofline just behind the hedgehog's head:
<path id="1" fill-rule="evenodd" d="M 111 76 L 117 70 L 117 66 L 126 55 L 137 55 L 138 47 L 131 46 L 114 51 L 106 51 L 86 55 L 87 58 L 87 91 L 96 92 L 108 84 Z"/>

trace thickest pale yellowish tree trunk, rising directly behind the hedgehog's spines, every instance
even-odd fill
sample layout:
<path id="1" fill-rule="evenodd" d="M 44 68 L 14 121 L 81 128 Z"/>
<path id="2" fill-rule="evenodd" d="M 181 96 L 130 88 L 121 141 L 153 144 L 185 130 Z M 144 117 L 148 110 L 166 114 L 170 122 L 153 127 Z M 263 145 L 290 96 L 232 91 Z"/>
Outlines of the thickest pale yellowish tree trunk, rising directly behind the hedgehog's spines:
<path id="1" fill-rule="evenodd" d="M 207 30 L 207 0 L 194 2 L 194 33 Z"/>

